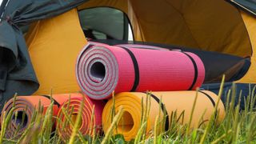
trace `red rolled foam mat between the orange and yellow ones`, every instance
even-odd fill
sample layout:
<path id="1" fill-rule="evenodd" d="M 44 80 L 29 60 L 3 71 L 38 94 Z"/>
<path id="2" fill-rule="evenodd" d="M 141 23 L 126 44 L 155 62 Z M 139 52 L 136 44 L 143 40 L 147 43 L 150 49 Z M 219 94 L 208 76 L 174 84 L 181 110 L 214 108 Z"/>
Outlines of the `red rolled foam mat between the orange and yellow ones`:
<path id="1" fill-rule="evenodd" d="M 72 122 L 75 123 L 82 102 L 82 95 L 80 94 L 77 97 L 72 97 L 70 99 L 70 102 L 68 102 L 68 98 L 66 100 L 67 101 L 63 102 L 62 106 L 60 107 L 58 118 L 61 122 L 57 124 L 58 135 L 63 140 L 70 139 L 73 126 L 71 126 L 70 122 L 67 121 L 66 116 L 62 111 L 62 108 L 65 108 L 65 110 L 67 110 L 68 114 L 71 115 L 70 118 Z M 102 130 L 102 110 L 105 106 L 105 103 L 102 101 L 91 100 L 88 97 L 85 98 L 84 102 L 85 103 L 82 109 L 82 120 L 79 124 L 78 130 L 82 133 L 82 135 L 92 135 L 94 130 L 96 133 L 98 133 Z M 93 120 L 93 122 L 91 122 L 91 120 Z M 65 122 L 67 122 L 67 126 L 65 126 Z"/>

